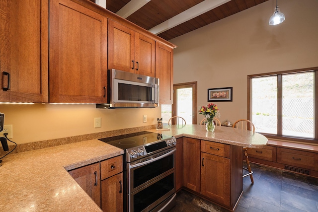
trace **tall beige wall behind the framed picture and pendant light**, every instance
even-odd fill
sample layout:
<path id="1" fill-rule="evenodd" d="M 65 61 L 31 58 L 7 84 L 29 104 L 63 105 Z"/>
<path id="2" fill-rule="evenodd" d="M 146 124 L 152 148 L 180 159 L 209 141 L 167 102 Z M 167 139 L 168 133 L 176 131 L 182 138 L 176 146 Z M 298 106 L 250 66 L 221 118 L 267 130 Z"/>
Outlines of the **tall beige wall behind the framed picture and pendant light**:
<path id="1" fill-rule="evenodd" d="M 318 67 L 318 0 L 279 0 L 286 20 L 270 26 L 275 5 L 269 0 L 170 40 L 178 46 L 173 82 L 198 81 L 198 107 L 208 104 L 208 88 L 233 87 L 233 102 L 215 102 L 221 122 L 247 118 L 248 74 Z"/>

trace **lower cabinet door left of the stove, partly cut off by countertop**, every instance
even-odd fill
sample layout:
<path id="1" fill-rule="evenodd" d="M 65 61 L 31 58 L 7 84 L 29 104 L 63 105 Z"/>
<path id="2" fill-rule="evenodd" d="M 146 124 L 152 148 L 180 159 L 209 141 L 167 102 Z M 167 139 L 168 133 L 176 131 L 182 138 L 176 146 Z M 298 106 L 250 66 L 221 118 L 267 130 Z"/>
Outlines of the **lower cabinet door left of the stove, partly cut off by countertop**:
<path id="1" fill-rule="evenodd" d="M 100 168 L 99 163 L 69 171 L 79 186 L 100 207 Z"/>

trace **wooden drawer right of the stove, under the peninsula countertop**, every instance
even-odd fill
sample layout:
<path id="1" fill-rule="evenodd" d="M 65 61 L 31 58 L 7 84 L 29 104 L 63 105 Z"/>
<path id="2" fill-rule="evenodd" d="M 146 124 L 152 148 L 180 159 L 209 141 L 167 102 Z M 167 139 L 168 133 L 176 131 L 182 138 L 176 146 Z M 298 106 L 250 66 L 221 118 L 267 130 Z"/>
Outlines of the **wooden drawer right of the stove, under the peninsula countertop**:
<path id="1" fill-rule="evenodd" d="M 229 144 L 201 140 L 201 151 L 230 158 Z"/>

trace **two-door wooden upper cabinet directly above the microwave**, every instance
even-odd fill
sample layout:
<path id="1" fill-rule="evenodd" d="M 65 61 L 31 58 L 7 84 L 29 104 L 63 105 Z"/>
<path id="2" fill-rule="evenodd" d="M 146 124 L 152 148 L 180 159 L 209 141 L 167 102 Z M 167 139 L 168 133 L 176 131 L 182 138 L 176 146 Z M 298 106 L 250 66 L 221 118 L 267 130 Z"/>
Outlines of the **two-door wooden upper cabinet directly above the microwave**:
<path id="1" fill-rule="evenodd" d="M 155 40 L 108 19 L 108 69 L 155 77 Z"/>

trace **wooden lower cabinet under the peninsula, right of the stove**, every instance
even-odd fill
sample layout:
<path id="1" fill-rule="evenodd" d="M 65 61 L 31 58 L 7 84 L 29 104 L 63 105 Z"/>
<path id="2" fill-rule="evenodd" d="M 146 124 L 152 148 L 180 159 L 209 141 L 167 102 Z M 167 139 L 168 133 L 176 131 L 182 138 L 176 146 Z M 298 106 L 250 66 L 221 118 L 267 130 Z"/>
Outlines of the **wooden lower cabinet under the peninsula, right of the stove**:
<path id="1" fill-rule="evenodd" d="M 183 186 L 233 210 L 242 194 L 241 146 L 183 137 Z"/>

